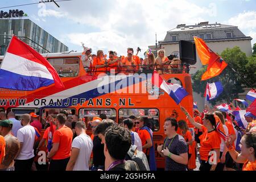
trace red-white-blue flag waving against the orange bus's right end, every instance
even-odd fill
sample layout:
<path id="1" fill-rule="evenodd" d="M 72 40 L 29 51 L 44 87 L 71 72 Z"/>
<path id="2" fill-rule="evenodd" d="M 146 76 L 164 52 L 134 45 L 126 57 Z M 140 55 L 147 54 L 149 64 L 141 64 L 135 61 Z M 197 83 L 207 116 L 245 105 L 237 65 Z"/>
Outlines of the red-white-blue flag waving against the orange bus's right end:
<path id="1" fill-rule="evenodd" d="M 152 75 L 152 85 L 161 88 L 166 92 L 175 102 L 179 104 L 185 96 L 188 95 L 187 91 L 179 84 L 168 84 L 159 76 L 157 72 Z"/>

